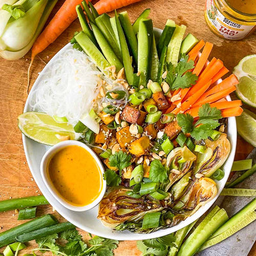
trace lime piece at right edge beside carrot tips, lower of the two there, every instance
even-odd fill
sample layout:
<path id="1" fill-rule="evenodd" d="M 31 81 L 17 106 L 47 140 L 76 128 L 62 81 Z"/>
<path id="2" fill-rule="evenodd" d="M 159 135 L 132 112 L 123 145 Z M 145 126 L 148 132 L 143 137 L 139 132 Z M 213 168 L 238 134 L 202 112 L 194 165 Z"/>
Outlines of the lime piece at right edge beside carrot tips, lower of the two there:
<path id="1" fill-rule="evenodd" d="M 248 143 L 256 147 L 256 114 L 244 109 L 241 116 L 236 117 L 237 132 Z"/>

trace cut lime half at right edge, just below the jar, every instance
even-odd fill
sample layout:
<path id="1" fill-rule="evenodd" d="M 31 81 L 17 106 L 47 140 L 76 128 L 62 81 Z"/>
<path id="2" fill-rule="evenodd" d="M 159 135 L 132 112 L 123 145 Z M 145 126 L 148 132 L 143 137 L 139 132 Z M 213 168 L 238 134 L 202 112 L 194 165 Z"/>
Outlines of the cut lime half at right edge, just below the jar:
<path id="1" fill-rule="evenodd" d="M 234 68 L 233 73 L 239 79 L 237 97 L 256 108 L 256 54 L 244 57 Z"/>

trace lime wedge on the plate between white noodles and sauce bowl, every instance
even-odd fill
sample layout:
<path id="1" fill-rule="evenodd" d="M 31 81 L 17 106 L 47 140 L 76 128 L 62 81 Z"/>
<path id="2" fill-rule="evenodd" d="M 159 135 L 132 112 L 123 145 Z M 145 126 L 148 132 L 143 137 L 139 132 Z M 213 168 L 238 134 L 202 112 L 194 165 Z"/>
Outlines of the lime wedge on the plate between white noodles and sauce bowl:
<path id="1" fill-rule="evenodd" d="M 28 138 L 46 145 L 55 145 L 63 140 L 76 140 L 72 125 L 58 123 L 45 113 L 26 112 L 18 117 L 18 127 Z"/>

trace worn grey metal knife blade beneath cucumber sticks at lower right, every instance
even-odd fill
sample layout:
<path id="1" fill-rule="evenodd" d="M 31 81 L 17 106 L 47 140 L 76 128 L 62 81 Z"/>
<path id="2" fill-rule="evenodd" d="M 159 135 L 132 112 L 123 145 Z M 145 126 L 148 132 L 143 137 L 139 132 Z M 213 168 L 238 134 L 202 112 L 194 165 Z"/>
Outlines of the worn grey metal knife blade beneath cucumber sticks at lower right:
<path id="1" fill-rule="evenodd" d="M 256 148 L 248 155 L 247 159 L 253 159 L 253 164 L 256 163 Z M 239 188 L 256 189 L 256 173 L 248 177 L 238 185 Z M 252 197 L 239 196 L 221 196 L 216 201 L 217 205 L 223 207 L 228 216 L 232 216 L 237 211 L 248 204 Z M 256 221 L 247 227 L 239 230 L 233 236 L 228 237 L 221 243 L 215 244 L 206 250 L 197 253 L 198 256 L 247 256 L 253 244 L 256 241 Z M 185 256 L 185 255 L 184 255 Z"/>

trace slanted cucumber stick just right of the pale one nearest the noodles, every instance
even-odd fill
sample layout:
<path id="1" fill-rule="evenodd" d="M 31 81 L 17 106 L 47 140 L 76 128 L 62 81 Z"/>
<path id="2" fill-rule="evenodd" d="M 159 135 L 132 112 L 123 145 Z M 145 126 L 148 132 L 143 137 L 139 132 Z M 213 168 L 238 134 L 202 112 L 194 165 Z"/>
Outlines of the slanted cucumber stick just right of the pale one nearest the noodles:
<path id="1" fill-rule="evenodd" d="M 101 33 L 100 29 L 94 23 L 91 24 L 91 27 L 102 53 L 108 60 L 109 64 L 115 66 L 116 72 L 118 72 L 123 67 L 122 62 L 118 59 L 111 46 L 108 44 L 108 41 Z"/>

